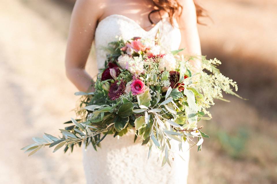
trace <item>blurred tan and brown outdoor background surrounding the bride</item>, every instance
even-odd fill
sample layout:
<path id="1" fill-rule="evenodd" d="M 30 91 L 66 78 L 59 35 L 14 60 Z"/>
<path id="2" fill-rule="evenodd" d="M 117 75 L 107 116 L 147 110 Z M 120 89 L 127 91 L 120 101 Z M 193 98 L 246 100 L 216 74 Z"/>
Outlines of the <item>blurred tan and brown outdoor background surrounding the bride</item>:
<path id="1" fill-rule="evenodd" d="M 225 95 L 230 103 L 210 109 L 213 119 L 201 123 L 210 138 L 190 152 L 188 183 L 277 183 L 277 1 L 199 3 L 211 18 L 199 25 L 203 55 L 220 59 L 249 100 Z M 43 132 L 58 135 L 75 117 L 76 89 L 64 71 L 73 5 L 0 1 L 0 183 L 85 183 L 81 149 L 32 157 L 19 150 Z"/>

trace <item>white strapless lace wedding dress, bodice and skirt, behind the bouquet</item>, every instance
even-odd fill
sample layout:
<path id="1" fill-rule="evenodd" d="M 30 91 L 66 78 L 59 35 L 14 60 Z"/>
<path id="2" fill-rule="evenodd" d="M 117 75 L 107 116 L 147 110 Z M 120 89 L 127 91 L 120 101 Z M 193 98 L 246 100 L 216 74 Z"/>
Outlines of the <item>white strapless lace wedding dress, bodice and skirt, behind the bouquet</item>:
<path id="1" fill-rule="evenodd" d="M 98 69 L 104 68 L 106 47 L 108 43 L 117 41 L 117 36 L 124 40 L 132 37 L 154 39 L 160 31 L 160 43 L 168 51 L 177 50 L 181 41 L 180 30 L 171 26 L 167 19 L 158 22 L 151 30 L 145 31 L 134 20 L 122 16 L 111 15 L 99 22 L 95 32 L 95 46 Z M 168 164 L 161 167 L 157 162 L 158 154 L 153 149 L 149 160 L 148 147 L 141 146 L 141 140 L 134 143 L 134 133 L 119 138 L 107 135 L 101 142 L 97 152 L 90 144 L 83 147 L 83 164 L 88 184 L 186 184 L 188 176 L 189 145 L 184 143 L 179 152 L 178 143 L 171 140 L 174 151 L 172 167 Z"/>

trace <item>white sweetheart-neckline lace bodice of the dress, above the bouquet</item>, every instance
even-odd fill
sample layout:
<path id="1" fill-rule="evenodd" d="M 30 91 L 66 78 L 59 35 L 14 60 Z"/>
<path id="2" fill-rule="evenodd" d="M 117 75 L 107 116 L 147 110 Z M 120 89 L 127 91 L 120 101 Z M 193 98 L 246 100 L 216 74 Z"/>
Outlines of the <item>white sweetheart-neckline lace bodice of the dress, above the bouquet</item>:
<path id="1" fill-rule="evenodd" d="M 151 30 L 144 30 L 134 20 L 118 14 L 110 15 L 99 22 L 95 31 L 96 59 L 98 69 L 104 68 L 106 60 L 106 47 L 108 43 L 117 41 L 116 37 L 121 36 L 124 40 L 133 37 L 142 37 L 144 39 L 154 39 L 157 31 L 160 31 L 159 41 L 162 49 L 172 51 L 179 49 L 181 42 L 181 33 L 175 21 L 173 27 L 167 18 L 158 22 Z"/>

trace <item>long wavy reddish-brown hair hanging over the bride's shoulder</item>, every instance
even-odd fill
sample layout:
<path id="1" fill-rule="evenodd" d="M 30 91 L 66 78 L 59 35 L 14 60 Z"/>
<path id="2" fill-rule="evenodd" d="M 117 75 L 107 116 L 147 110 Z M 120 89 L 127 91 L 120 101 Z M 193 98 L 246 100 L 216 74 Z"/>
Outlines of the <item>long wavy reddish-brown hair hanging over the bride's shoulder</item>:
<path id="1" fill-rule="evenodd" d="M 152 0 L 152 1 L 158 9 L 151 11 L 148 15 L 148 19 L 151 22 L 151 24 L 154 24 L 154 23 L 152 22 L 150 15 L 154 12 L 160 13 L 161 10 L 166 11 L 169 15 L 169 20 L 172 25 L 173 25 L 173 19 L 178 18 L 182 13 L 183 7 L 180 5 L 178 0 Z M 199 17 L 204 16 L 203 15 L 204 9 L 198 3 L 196 3 L 195 0 L 193 1 L 196 8 L 197 22 L 201 24 L 201 22 L 199 22 Z"/>

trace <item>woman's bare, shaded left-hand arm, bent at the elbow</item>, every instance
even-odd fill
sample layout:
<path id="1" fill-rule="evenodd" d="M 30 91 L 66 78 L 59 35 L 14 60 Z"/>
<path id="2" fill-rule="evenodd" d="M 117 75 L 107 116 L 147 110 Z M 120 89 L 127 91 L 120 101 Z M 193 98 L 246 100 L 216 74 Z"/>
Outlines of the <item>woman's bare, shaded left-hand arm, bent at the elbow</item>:
<path id="1" fill-rule="evenodd" d="M 92 78 L 85 71 L 85 65 L 100 14 L 99 2 L 95 0 L 77 0 L 72 12 L 65 69 L 68 79 L 80 91 L 94 91 L 91 87 Z"/>

